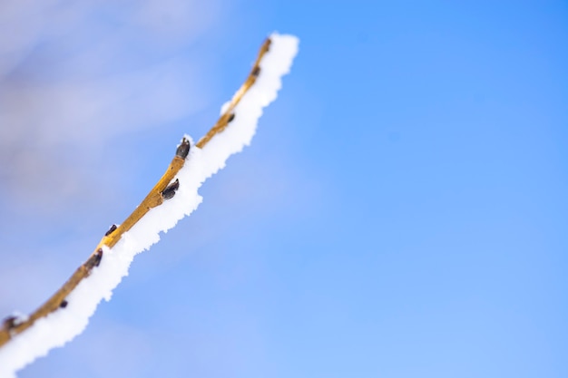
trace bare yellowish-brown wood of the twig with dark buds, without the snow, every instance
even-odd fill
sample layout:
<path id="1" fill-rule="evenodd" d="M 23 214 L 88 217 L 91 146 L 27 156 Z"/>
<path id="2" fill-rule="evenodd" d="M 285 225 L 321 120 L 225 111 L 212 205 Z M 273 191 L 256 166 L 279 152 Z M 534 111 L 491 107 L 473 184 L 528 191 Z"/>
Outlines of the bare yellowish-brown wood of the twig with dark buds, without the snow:
<path id="1" fill-rule="evenodd" d="M 203 148 L 215 135 L 224 131 L 234 117 L 234 109 L 239 104 L 242 96 L 249 91 L 250 87 L 256 82 L 260 73 L 260 60 L 265 53 L 269 51 L 270 39 L 267 38 L 260 47 L 258 57 L 252 66 L 249 76 L 245 82 L 240 86 L 232 99 L 230 100 L 226 110 L 220 115 L 219 120 L 213 125 L 210 131 L 205 134 L 195 146 Z M 27 318 L 21 319 L 14 316 L 5 318 L 5 321 L 0 329 L 0 347 L 9 343 L 9 341 L 17 334 L 21 334 L 26 329 L 34 325 L 34 323 L 49 314 L 54 313 L 59 308 L 64 308 L 67 305 L 66 297 L 75 289 L 83 279 L 91 274 L 93 267 L 97 267 L 103 258 L 103 247 L 112 248 L 121 239 L 122 235 L 130 230 L 140 219 L 142 219 L 150 209 L 162 205 L 164 200 L 170 199 L 175 190 L 177 189 L 176 182 L 171 183 L 171 180 L 183 167 L 185 158 L 190 150 L 190 142 L 185 138 L 181 141 L 181 145 L 176 150 L 176 154 L 171 160 L 168 169 L 163 174 L 162 178 L 158 180 L 156 185 L 150 190 L 150 193 L 142 200 L 142 203 L 132 211 L 132 214 L 122 222 L 120 226 L 113 226 L 109 229 L 101 242 L 94 249 L 93 254 L 77 268 L 64 286 L 51 296 L 44 305 L 41 305 Z"/>

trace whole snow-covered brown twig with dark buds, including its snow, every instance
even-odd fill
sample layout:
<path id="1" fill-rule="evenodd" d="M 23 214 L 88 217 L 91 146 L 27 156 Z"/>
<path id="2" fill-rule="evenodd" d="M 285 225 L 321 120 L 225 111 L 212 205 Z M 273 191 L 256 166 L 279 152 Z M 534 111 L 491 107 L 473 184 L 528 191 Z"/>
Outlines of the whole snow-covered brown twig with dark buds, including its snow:
<path id="1" fill-rule="evenodd" d="M 294 36 L 271 34 L 211 131 L 195 144 L 183 137 L 162 179 L 121 225 L 109 229 L 54 296 L 29 316 L 5 318 L 0 328 L 0 377 L 15 377 L 35 358 L 81 334 L 97 305 L 103 298 L 110 300 L 114 287 L 128 275 L 133 257 L 200 205 L 198 189 L 205 179 L 250 144 L 262 109 L 276 99 L 281 77 L 289 73 L 298 44 Z"/>

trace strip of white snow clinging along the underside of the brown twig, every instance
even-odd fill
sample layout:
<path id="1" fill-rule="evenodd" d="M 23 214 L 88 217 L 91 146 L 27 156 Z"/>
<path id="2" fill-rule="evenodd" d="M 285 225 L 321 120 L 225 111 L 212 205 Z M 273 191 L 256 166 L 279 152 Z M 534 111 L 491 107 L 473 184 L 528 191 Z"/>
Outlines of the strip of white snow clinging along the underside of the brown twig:
<path id="1" fill-rule="evenodd" d="M 295 36 L 272 34 L 270 39 L 269 52 L 260 61 L 260 76 L 235 107 L 234 120 L 202 150 L 191 141 L 185 164 L 172 179 L 180 180 L 175 196 L 152 208 L 113 248 L 103 248 L 100 266 L 94 267 L 91 276 L 83 279 L 67 296 L 65 308 L 37 320 L 0 348 L 0 378 L 15 377 L 15 372 L 35 358 L 81 334 L 101 300 L 110 300 L 114 287 L 120 284 L 123 276 L 128 276 L 134 256 L 157 243 L 160 232 L 167 232 L 178 220 L 189 216 L 201 203 L 198 189 L 203 181 L 224 168 L 230 155 L 250 144 L 262 108 L 276 99 L 281 77 L 289 73 L 298 53 L 299 40 Z"/>

